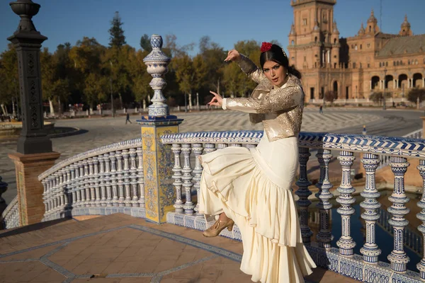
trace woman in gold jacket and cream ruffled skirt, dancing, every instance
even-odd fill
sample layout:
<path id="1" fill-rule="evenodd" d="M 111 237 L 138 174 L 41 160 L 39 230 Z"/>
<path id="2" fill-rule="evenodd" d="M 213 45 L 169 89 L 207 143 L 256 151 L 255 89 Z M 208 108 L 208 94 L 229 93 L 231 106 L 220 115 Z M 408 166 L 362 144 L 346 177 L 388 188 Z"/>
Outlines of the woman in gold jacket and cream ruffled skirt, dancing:
<path id="1" fill-rule="evenodd" d="M 232 231 L 242 234 L 241 270 L 254 282 L 297 283 L 316 267 L 302 243 L 291 186 L 297 171 L 297 137 L 301 128 L 304 92 L 301 74 L 289 67 L 278 45 L 263 42 L 261 69 L 231 50 L 225 61 L 235 61 L 259 83 L 250 98 L 214 98 L 209 105 L 249 113 L 263 122 L 264 133 L 254 149 L 227 147 L 200 156 L 200 212 L 220 215 L 204 236 Z"/>

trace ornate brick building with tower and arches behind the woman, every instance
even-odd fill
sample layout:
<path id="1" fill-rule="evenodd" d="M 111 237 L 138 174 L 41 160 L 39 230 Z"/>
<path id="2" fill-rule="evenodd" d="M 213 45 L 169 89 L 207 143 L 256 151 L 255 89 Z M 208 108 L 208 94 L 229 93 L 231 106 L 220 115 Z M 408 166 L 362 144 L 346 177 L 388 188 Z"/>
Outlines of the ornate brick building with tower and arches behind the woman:
<path id="1" fill-rule="evenodd" d="M 320 99 L 326 91 L 339 99 L 368 98 L 384 87 L 400 98 L 409 88 L 425 86 L 425 35 L 413 35 L 407 16 L 398 34 L 387 34 L 372 11 L 357 35 L 344 38 L 334 21 L 336 0 L 290 4 L 290 64 L 302 72 L 306 101 Z"/>

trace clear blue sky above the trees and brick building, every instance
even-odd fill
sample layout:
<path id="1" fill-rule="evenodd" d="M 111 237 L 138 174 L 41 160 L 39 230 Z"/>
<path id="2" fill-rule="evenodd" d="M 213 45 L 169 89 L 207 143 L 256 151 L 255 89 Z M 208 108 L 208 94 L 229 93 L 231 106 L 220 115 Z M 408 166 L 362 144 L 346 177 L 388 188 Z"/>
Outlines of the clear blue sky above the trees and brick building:
<path id="1" fill-rule="evenodd" d="M 0 3 L 0 52 L 7 49 L 6 39 L 18 27 L 19 17 L 8 5 Z M 42 47 L 50 52 L 57 45 L 70 42 L 75 45 L 84 36 L 95 37 L 108 45 L 111 20 L 115 11 L 120 13 L 126 41 L 140 48 L 143 34 L 167 34 L 177 37 L 179 46 L 195 43 L 190 53 L 199 52 L 198 42 L 208 35 L 225 50 L 233 48 L 239 40 L 259 42 L 278 40 L 282 47 L 288 45 L 293 9 L 290 0 L 33 0 L 41 5 L 33 17 L 35 28 L 48 37 Z M 414 34 L 425 33 L 421 13 L 424 0 L 337 0 L 334 20 L 340 36 L 351 37 L 358 32 L 375 11 L 380 23 L 382 1 L 382 31 L 398 33 L 407 14 Z"/>

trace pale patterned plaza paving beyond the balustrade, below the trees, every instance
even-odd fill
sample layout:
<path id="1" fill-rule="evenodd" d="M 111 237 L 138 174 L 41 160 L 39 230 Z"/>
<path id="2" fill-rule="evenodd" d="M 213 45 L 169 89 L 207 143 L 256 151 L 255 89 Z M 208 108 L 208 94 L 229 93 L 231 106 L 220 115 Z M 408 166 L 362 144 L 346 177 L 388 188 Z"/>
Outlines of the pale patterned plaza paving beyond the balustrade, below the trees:
<path id="1" fill-rule="evenodd" d="M 179 113 L 184 121 L 180 126 L 181 132 L 226 131 L 242 129 L 262 129 L 261 123 L 252 126 L 249 116 L 232 111 L 204 111 Z M 78 127 L 88 132 L 70 137 L 52 139 L 53 150 L 61 154 L 59 161 L 98 146 L 112 144 L 117 141 L 140 137 L 140 125 L 135 120 L 139 116 L 130 117 L 132 124 L 125 125 L 125 117 L 104 117 L 91 119 L 57 120 L 57 127 Z M 379 120 L 378 115 L 368 114 L 367 111 L 351 112 L 351 110 L 325 110 L 323 115 L 317 109 L 306 108 L 302 120 L 302 131 L 333 132 L 344 127 L 357 127 L 361 134 L 363 124 Z M 4 194 L 6 202 L 16 196 L 16 178 L 13 162 L 8 158 L 9 153 L 16 152 L 16 141 L 0 139 L 0 176 L 9 184 Z"/>

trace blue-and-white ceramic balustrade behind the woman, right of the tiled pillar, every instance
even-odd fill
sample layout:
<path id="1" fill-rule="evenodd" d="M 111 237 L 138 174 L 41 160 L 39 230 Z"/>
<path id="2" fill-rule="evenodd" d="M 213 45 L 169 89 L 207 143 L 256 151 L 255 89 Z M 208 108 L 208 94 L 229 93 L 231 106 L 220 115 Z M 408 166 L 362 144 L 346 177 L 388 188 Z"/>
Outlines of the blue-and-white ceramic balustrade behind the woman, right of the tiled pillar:
<path id="1" fill-rule="evenodd" d="M 227 146 L 256 146 L 262 134 L 263 132 L 260 131 L 237 131 L 193 132 L 162 136 L 162 142 L 171 145 L 175 158 L 173 185 L 176 190 L 174 202 L 176 211 L 167 214 L 167 221 L 193 229 L 205 229 L 208 224 L 205 223 L 203 215 L 198 213 L 195 202 L 195 195 L 200 192 L 202 173 L 197 157 Z M 296 182 L 298 190 L 295 195 L 299 197 L 297 205 L 300 209 L 302 240 L 315 262 L 319 266 L 365 282 L 422 282 L 421 279 L 425 279 L 425 259 L 416 265 L 420 273 L 407 270 L 409 257 L 404 251 L 406 237 L 404 230 L 409 222 L 404 216 L 409 213 L 409 208 L 406 207 L 409 198 L 404 192 L 404 173 L 409 166 L 407 158 L 419 158 L 418 174 L 425 178 L 425 140 L 302 132 L 299 135 L 299 145 L 300 176 Z M 309 210 L 311 210 L 309 206 L 312 204 L 309 200 L 309 196 L 312 195 L 311 183 L 307 176 L 310 149 L 317 149 L 316 157 L 320 165 L 320 178 L 316 184 L 318 192 L 315 194 L 319 201 L 317 204 L 319 227 L 315 242 L 312 241 L 313 233 L 308 225 Z M 329 181 L 329 162 L 332 158 L 331 152 L 334 151 L 339 151 L 338 159 L 341 164 L 341 184 L 336 189 L 339 192 L 336 202 L 340 204 L 336 211 L 340 214 L 342 223 L 341 238 L 336 242 L 339 248 L 331 247 L 334 236 L 329 226 L 329 215 L 333 207 L 330 200 L 334 197 L 329 191 L 334 186 Z M 356 243 L 351 236 L 351 216 L 355 212 L 352 207 L 355 202 L 352 194 L 356 191 L 351 185 L 350 178 L 351 166 L 355 159 L 354 153 L 361 154 L 361 163 L 365 168 L 365 187 L 361 192 L 363 201 L 360 204 L 363 209 L 361 218 L 365 221 L 365 243 Z M 388 198 L 392 205 L 387 209 L 392 216 L 388 224 L 392 226 L 394 240 L 393 250 L 387 255 L 390 264 L 378 260 L 381 254 L 379 245 L 386 244 L 379 243 L 380 239 L 376 238 L 376 227 L 381 217 L 381 204 L 378 202 L 380 192 L 375 185 L 375 171 L 380 163 L 380 155 L 390 156 L 390 166 L 395 175 L 394 190 Z M 181 158 L 183 158 L 183 166 Z M 425 191 L 417 205 L 422 209 L 417 214 L 417 218 L 423 222 L 418 230 L 424 236 Z M 240 239 L 237 227 L 232 232 L 222 231 L 222 235 Z M 362 255 L 356 255 L 353 252 L 356 245 L 362 245 L 360 249 Z"/>

